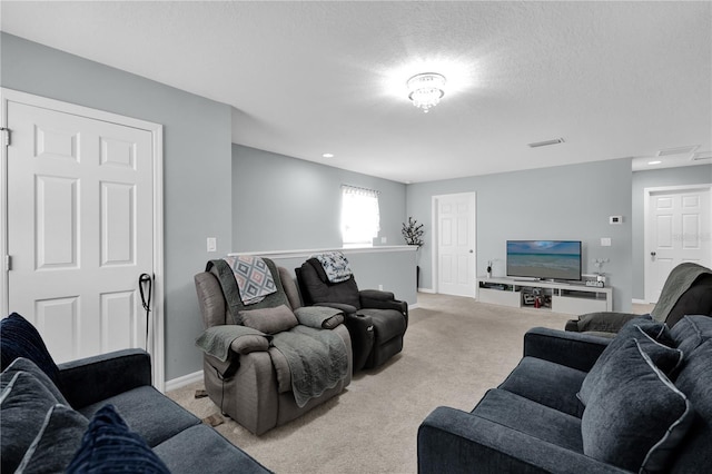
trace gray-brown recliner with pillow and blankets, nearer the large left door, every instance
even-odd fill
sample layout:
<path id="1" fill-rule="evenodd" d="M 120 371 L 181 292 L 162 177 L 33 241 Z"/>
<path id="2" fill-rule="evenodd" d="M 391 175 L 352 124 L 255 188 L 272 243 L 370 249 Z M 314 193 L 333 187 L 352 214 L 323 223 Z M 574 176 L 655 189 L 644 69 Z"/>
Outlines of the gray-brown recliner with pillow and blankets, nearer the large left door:
<path id="1" fill-rule="evenodd" d="M 338 395 L 350 383 L 353 371 L 350 337 L 342 324 L 343 314 L 329 308 L 332 313 L 324 316 L 325 308 L 316 308 L 322 312 L 317 312 L 317 319 L 323 317 L 314 324 L 315 315 L 309 313 L 314 308 L 301 306 L 296 284 L 289 273 L 285 268 L 277 268 L 267 258 L 263 261 L 269 268 L 276 292 L 250 305 L 245 305 L 239 295 L 229 290 L 226 298 L 221 278 L 231 269 L 225 268 L 224 260 L 209 261 L 206 271 L 195 276 L 206 327 L 206 332 L 196 342 L 204 350 L 206 391 L 222 414 L 256 435 L 295 419 Z M 293 319 L 287 326 L 296 326 L 286 329 L 284 322 L 289 318 L 289 313 L 293 318 L 296 315 L 297 319 Z M 346 359 L 339 359 L 344 367 L 336 385 L 327 385 L 320 394 L 314 394 L 306 403 L 304 397 L 297 397 L 295 393 L 290 362 L 275 346 L 280 333 L 291 335 L 301 332 L 305 325 L 318 328 L 319 333 L 336 334 L 337 339 L 343 340 L 343 356 Z M 220 333 L 229 334 L 229 337 L 220 339 Z M 206 346 L 210 346 L 210 352 Z M 300 378 L 308 379 L 310 375 L 314 374 L 309 373 Z"/>

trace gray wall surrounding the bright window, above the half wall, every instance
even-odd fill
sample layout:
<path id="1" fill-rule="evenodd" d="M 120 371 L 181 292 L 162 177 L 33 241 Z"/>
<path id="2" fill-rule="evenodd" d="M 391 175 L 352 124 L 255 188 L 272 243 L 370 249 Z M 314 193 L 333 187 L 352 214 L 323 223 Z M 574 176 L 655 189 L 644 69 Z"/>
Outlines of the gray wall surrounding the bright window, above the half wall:
<path id="1" fill-rule="evenodd" d="M 380 191 L 377 244 L 405 244 L 405 185 L 233 145 L 233 250 L 340 247 L 342 185 Z"/>

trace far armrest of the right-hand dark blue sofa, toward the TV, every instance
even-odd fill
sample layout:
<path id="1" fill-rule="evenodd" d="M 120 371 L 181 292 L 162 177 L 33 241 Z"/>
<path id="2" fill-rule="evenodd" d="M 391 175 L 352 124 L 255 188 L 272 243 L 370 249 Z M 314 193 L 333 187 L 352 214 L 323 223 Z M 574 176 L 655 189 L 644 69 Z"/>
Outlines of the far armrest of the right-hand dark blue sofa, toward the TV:
<path id="1" fill-rule="evenodd" d="M 524 356 L 589 372 L 610 342 L 606 337 L 534 327 L 524 335 Z"/>

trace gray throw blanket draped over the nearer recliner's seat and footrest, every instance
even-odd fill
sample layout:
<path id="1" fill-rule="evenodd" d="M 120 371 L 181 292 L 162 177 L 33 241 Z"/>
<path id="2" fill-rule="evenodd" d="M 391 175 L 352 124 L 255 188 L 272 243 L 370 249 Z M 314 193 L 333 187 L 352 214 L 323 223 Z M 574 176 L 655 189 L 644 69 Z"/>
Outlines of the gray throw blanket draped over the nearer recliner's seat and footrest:
<path id="1" fill-rule="evenodd" d="M 334 388 L 348 371 L 346 344 L 332 330 L 295 326 L 278 333 L 273 345 L 287 358 L 298 407 Z"/>

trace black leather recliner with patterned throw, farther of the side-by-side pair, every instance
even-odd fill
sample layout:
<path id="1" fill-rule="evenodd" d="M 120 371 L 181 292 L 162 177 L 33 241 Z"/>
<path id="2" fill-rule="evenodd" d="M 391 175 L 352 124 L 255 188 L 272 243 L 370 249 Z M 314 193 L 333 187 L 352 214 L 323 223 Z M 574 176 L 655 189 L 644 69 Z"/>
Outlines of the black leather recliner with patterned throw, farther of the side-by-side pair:
<path id="1" fill-rule="evenodd" d="M 352 336 L 354 372 L 385 364 L 403 349 L 408 327 L 408 304 L 390 292 L 359 290 L 352 275 L 332 283 L 317 258 L 295 268 L 305 305 L 328 306 L 344 312 Z"/>

